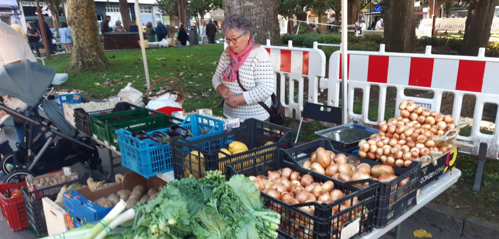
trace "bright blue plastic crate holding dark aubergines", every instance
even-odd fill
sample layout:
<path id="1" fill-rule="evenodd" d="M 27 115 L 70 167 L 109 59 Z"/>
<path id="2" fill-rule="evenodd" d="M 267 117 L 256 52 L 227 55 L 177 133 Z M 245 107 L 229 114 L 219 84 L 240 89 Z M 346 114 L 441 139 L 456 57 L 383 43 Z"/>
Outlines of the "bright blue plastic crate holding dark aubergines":
<path id="1" fill-rule="evenodd" d="M 189 129 L 194 135 L 189 140 L 197 140 L 223 132 L 224 124 L 222 120 L 194 114 L 187 116 L 180 125 Z M 201 134 L 201 129 L 206 133 Z M 153 130 L 147 134 L 151 135 L 158 131 L 167 134 L 168 128 Z M 170 144 L 162 145 L 151 139 L 139 140 L 132 137 L 132 132 L 126 129 L 118 129 L 116 134 L 118 134 L 123 166 L 144 178 L 154 177 L 173 169 Z"/>

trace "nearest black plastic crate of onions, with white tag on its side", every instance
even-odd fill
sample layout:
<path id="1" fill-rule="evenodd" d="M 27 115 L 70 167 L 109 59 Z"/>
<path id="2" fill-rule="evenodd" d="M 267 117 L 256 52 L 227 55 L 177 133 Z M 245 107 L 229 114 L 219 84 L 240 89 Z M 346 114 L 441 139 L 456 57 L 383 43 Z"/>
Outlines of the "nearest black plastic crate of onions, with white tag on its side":
<path id="1" fill-rule="evenodd" d="M 301 167 L 296 162 L 285 161 L 285 154 L 283 149 L 274 149 L 227 163 L 227 178 L 236 174 L 247 177 L 266 176 L 268 171 L 289 167 L 299 172 L 301 176 L 305 174 L 312 175 L 314 182 L 331 181 L 331 178 L 325 175 L 312 174 L 310 170 Z M 262 158 L 266 160 L 261 160 Z M 369 179 L 363 180 L 363 182 L 369 182 L 369 186 L 358 188 L 349 183 L 335 182 L 334 189 L 341 190 L 345 193 L 345 196 L 331 203 L 305 202 L 288 204 L 266 193 L 260 192 L 260 195 L 267 208 L 281 215 L 281 223 L 277 230 L 280 238 L 341 238 L 341 231 L 347 226 L 354 229 L 351 236 L 358 237 L 373 228 L 376 192 L 379 185 Z M 343 203 L 351 204 L 354 197 L 358 198 L 359 203 L 340 211 Z M 315 208 L 313 215 L 300 209 L 308 206 Z M 358 226 L 356 225 L 357 222 L 359 223 Z"/>

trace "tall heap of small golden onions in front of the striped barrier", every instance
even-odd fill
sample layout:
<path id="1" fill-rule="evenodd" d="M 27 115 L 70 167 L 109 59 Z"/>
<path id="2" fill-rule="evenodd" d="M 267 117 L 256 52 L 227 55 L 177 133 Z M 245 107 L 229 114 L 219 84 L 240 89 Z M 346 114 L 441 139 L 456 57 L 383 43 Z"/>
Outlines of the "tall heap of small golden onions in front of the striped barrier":
<path id="1" fill-rule="evenodd" d="M 359 142 L 360 157 L 407 167 L 414 159 L 429 155 L 430 151 L 445 153 L 454 148 L 452 144 L 433 140 L 456 128 L 454 117 L 430 111 L 414 100 L 403 100 L 399 109 L 400 116 L 379 122 L 379 133 L 372 134 L 368 141 Z"/>

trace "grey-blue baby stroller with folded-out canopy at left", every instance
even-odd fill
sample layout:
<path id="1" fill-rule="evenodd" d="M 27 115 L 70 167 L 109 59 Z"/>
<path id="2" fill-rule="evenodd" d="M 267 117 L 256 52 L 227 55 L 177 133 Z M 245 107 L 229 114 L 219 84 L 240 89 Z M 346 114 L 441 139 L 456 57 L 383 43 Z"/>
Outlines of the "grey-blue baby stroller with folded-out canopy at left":
<path id="1" fill-rule="evenodd" d="M 23 181 L 27 175 L 42 175 L 76 163 L 103 172 L 96 144 L 78 136 L 62 109 L 45 95 L 54 75 L 53 68 L 28 60 L 0 67 L 0 96 L 10 95 L 27 105 L 19 113 L 0 103 L 0 110 L 12 116 L 17 131 L 24 132 L 17 150 L 1 160 L 5 182 Z"/>

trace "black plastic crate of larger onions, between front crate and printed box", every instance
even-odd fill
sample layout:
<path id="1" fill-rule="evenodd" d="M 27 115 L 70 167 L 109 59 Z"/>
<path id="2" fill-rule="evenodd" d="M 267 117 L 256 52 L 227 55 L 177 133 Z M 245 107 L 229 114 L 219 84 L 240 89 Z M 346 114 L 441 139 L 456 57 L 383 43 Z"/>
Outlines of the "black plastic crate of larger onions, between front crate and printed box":
<path id="1" fill-rule="evenodd" d="M 309 159 L 310 155 L 317 150 L 318 147 L 325 148 L 326 150 L 333 150 L 334 147 L 331 142 L 326 139 L 312 141 L 303 145 L 299 145 L 286 150 L 286 160 L 295 160 L 298 164 Z M 354 156 L 349 156 L 354 157 Z M 376 164 L 383 164 L 369 159 L 357 158 L 361 163 L 368 163 L 371 166 Z M 393 167 L 397 179 L 388 183 L 379 183 L 377 191 L 377 212 L 374 215 L 374 227 L 381 228 L 388 225 L 393 220 L 400 217 L 407 210 L 416 206 L 416 196 L 419 189 L 419 170 L 421 170 L 421 163 L 413 162 L 407 168 Z M 327 176 L 326 176 L 327 177 Z M 329 178 L 329 177 L 328 177 Z M 410 178 L 409 182 L 403 187 L 399 188 L 398 184 Z"/>

